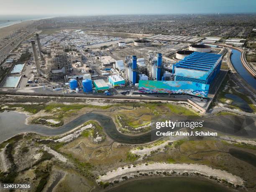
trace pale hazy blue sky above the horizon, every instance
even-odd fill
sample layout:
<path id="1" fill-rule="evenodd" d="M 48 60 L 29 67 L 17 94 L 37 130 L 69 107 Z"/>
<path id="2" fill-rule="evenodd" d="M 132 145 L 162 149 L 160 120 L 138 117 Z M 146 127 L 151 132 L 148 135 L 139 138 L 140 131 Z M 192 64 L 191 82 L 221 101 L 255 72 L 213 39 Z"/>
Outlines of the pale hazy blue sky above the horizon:
<path id="1" fill-rule="evenodd" d="M 256 0 L 0 0 L 0 15 L 255 12 Z"/>

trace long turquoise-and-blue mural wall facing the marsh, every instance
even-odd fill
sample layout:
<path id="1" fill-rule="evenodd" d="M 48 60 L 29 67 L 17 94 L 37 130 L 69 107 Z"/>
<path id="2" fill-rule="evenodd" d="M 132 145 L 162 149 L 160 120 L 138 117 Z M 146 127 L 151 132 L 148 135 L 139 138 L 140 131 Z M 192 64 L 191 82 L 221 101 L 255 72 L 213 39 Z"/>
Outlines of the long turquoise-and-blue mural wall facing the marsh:
<path id="1" fill-rule="evenodd" d="M 140 80 L 139 93 L 170 93 L 189 94 L 198 97 L 207 97 L 209 84 L 190 81 L 152 81 Z"/>

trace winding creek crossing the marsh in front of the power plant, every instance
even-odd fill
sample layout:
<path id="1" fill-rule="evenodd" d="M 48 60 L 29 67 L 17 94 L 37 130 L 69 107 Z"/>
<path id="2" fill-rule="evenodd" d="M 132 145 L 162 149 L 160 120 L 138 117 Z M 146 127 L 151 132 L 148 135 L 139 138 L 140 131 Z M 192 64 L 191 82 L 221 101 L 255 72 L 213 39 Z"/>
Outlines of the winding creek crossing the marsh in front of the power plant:
<path id="1" fill-rule="evenodd" d="M 33 132 L 43 136 L 61 135 L 87 122 L 88 120 L 97 120 L 103 127 L 105 133 L 114 141 L 117 141 L 119 143 L 141 144 L 148 143 L 160 138 L 160 136 L 156 137 L 155 133 L 159 130 L 152 130 L 151 132 L 139 136 L 129 136 L 122 134 L 117 130 L 112 118 L 99 113 L 86 113 L 72 120 L 71 122 L 61 126 L 60 128 L 48 128 L 44 125 L 26 125 L 26 118 L 27 116 L 25 114 L 15 111 L 0 113 L 0 142 L 5 141 L 6 139 L 15 136 L 16 134 L 23 132 Z M 184 119 L 188 117 L 175 116 L 173 118 L 174 119 L 172 120 L 177 120 L 179 118 Z M 247 138 L 256 137 L 255 119 L 253 118 L 229 115 L 219 115 L 212 118 L 196 118 L 197 119 L 195 119 L 195 116 L 192 116 L 193 121 L 204 120 L 203 126 L 205 128 L 210 128 L 215 131 L 220 131 L 222 133 L 235 136 L 243 136 Z M 189 121 L 190 119 L 187 120 Z M 161 129 L 164 131 L 177 131 L 179 128 L 174 128 L 172 130 L 170 130 L 169 128 Z M 196 140 L 197 138 L 194 139 Z"/>

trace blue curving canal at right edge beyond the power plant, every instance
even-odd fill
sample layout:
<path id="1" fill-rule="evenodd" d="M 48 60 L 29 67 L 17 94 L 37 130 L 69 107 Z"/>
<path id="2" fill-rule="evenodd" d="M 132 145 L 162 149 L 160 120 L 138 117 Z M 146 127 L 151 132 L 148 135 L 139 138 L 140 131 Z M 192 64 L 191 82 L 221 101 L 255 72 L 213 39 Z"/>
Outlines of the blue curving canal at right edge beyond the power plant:
<path id="1" fill-rule="evenodd" d="M 231 62 L 241 77 L 243 77 L 243 79 L 246 80 L 251 87 L 256 89 L 256 79 L 243 67 L 240 51 L 232 49 Z"/>

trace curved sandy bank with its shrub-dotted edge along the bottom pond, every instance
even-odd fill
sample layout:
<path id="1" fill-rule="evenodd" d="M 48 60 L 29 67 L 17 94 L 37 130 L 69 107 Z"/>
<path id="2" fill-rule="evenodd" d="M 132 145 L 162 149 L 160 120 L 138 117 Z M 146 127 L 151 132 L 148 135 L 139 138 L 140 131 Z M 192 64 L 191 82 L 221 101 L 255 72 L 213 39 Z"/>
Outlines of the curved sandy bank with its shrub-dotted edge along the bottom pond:
<path id="1" fill-rule="evenodd" d="M 233 184 L 236 186 L 243 186 L 244 181 L 241 177 L 233 175 L 229 172 L 220 169 L 214 169 L 201 164 L 167 164 L 167 163 L 151 163 L 151 164 L 137 164 L 133 166 L 124 166 L 106 172 L 99 176 L 96 180 L 99 182 L 123 182 L 130 178 L 137 178 L 143 176 L 176 176 L 176 175 L 196 175 L 212 179 L 212 181 L 219 181 L 225 184 Z M 136 175 L 136 176 L 135 176 Z"/>

